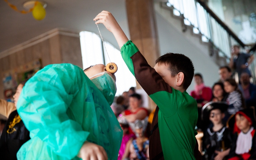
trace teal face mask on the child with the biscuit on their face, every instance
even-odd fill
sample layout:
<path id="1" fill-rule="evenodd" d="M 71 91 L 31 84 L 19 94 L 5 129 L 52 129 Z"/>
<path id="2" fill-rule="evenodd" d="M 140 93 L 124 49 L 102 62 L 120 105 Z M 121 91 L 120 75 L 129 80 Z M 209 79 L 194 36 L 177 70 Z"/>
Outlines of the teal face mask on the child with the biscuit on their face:
<path id="1" fill-rule="evenodd" d="M 103 75 L 101 75 L 103 74 Z M 97 75 L 101 75 L 95 79 L 94 78 Z M 116 82 L 114 79 L 107 74 L 106 72 L 98 73 L 94 76 L 91 76 L 89 79 L 95 84 L 95 86 L 101 91 L 101 93 L 106 98 L 109 105 L 112 105 L 114 101 L 114 96 L 116 95 Z"/>

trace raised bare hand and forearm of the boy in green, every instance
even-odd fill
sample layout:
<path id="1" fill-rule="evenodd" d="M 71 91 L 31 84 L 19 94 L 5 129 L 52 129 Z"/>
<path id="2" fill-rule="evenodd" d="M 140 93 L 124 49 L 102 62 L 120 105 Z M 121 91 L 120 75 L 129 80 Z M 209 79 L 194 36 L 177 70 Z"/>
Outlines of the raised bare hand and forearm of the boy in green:
<path id="1" fill-rule="evenodd" d="M 102 23 L 108 29 L 108 31 L 114 34 L 114 37 L 117 40 L 118 46 L 121 48 L 127 41 L 128 38 L 124 34 L 122 28 L 118 25 L 114 16 L 108 11 L 100 12 L 95 18 L 94 21 L 98 20 L 97 24 Z"/>

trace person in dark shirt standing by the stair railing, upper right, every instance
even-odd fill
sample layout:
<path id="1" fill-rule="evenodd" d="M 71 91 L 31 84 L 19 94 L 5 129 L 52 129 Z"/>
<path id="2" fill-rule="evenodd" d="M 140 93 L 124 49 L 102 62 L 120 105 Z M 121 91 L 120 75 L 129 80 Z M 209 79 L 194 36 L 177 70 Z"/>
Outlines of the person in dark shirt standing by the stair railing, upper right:
<path id="1" fill-rule="evenodd" d="M 240 76 L 243 72 L 246 72 L 251 76 L 248 66 L 252 63 L 253 60 L 254 56 L 252 54 L 240 53 L 239 46 L 235 45 L 232 48 L 229 66 L 238 72 L 240 79 Z"/>

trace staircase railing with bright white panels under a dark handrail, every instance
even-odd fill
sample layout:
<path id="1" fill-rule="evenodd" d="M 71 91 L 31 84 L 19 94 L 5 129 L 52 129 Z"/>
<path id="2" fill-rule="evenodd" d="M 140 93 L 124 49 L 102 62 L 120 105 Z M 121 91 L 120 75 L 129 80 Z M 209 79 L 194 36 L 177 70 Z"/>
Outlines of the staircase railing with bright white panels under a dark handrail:
<path id="1" fill-rule="evenodd" d="M 226 26 L 217 15 L 201 0 L 169 0 L 162 3 L 173 8 L 174 15 L 182 16 L 184 24 L 193 26 L 193 32 L 202 35 L 203 42 L 211 42 L 219 56 L 230 58 L 230 48 L 245 44 Z"/>

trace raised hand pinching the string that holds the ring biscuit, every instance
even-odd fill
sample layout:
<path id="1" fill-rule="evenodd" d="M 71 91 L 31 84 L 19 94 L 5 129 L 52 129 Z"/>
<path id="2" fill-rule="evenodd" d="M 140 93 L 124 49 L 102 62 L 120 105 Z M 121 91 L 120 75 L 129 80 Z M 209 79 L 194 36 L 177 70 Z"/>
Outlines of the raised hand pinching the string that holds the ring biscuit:
<path id="1" fill-rule="evenodd" d="M 108 31 L 110 32 L 114 32 L 115 30 L 119 30 L 121 29 L 121 27 L 118 25 L 116 19 L 114 18 L 114 16 L 108 12 L 108 11 L 102 11 L 100 12 L 95 18 L 94 21 L 98 20 L 97 22 L 95 22 L 95 24 L 99 24 L 102 23 L 103 25 L 105 25 L 105 27 L 108 29 Z"/>

